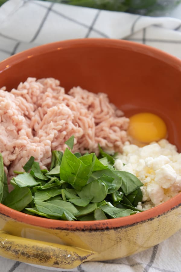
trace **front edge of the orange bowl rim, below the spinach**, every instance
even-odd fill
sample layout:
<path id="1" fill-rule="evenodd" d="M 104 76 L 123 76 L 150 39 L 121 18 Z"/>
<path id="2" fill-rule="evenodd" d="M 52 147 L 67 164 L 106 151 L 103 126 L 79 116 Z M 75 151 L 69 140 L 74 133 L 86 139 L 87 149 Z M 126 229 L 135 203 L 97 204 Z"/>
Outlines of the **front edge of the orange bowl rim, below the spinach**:
<path id="1" fill-rule="evenodd" d="M 0 203 L 0 214 L 14 219 L 17 222 L 26 223 L 33 226 L 64 229 L 64 230 L 101 230 L 111 228 L 129 227 L 153 220 L 167 214 L 173 209 L 181 207 L 181 192 L 166 202 L 137 214 L 128 215 L 125 217 L 104 219 L 96 221 L 66 221 L 48 219 L 39 216 L 29 215 L 23 212 L 16 211 Z"/>

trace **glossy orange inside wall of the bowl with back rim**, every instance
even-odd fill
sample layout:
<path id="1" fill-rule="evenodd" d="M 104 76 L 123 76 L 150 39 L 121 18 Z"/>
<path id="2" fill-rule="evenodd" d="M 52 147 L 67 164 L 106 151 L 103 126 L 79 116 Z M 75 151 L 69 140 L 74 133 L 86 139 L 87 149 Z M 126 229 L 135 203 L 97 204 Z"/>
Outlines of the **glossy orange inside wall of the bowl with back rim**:
<path id="1" fill-rule="evenodd" d="M 145 45 L 78 39 L 36 47 L 2 61 L 0 87 L 11 90 L 27 77 L 54 77 L 66 91 L 81 86 L 106 92 L 128 117 L 148 111 L 163 118 L 168 140 L 181 152 L 180 72 L 179 59 Z"/>

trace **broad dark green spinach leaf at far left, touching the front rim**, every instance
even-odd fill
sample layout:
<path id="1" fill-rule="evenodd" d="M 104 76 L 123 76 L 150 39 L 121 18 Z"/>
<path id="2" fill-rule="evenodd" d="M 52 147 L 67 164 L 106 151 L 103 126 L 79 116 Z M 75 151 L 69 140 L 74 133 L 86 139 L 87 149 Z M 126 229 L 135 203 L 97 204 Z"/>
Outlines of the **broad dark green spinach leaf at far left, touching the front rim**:
<path id="1" fill-rule="evenodd" d="M 27 187 L 16 186 L 3 201 L 5 206 L 22 211 L 32 201 L 31 191 Z"/>

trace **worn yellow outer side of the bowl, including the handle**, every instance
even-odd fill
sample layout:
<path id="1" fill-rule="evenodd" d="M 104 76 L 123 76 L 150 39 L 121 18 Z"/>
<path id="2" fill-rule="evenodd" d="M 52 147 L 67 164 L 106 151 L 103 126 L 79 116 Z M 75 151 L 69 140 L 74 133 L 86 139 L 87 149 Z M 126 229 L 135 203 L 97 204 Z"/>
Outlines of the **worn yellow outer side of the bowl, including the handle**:
<path id="1" fill-rule="evenodd" d="M 18 222 L 10 217 L 1 215 L 1 230 L 18 237 L 19 240 L 14 248 L 11 239 L 9 239 L 9 250 L 7 250 L 7 247 L 3 248 L 5 238 L 3 239 L 1 237 L 0 255 L 31 264 L 71 269 L 84 261 L 116 259 L 148 249 L 177 232 L 181 228 L 180 219 L 181 205 L 157 217 L 132 225 L 111 229 L 82 231 L 43 228 Z M 39 241 L 45 242 L 43 244 L 48 246 L 50 243 L 59 244 L 60 249 L 63 247 L 63 249 L 67 250 L 67 254 L 70 253 L 69 255 L 72 254 L 73 250 L 81 256 L 79 258 L 80 260 L 79 262 L 74 262 L 70 259 L 69 262 L 63 264 L 60 257 L 59 260 L 57 260 L 56 256 L 51 256 L 54 258 L 52 262 L 52 258 L 42 257 L 43 253 L 32 255 L 32 248 L 29 252 L 26 248 L 26 254 L 22 254 L 24 247 L 26 247 L 29 242 L 31 245 L 33 243 L 34 248 L 38 252 Z M 85 252 L 89 253 L 86 255 L 87 257 L 84 257 Z"/>

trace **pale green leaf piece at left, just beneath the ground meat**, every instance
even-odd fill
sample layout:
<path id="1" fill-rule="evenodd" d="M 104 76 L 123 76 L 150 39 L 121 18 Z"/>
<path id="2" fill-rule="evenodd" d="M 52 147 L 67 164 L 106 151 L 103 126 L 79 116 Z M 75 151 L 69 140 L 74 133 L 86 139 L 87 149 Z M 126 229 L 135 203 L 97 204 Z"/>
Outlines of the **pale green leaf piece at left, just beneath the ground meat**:
<path id="1" fill-rule="evenodd" d="M 37 182 L 30 173 L 18 175 L 12 180 L 14 180 L 19 187 L 33 187 L 40 184 L 40 182 Z"/>

